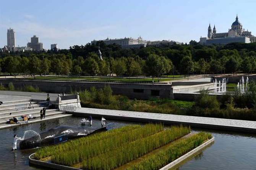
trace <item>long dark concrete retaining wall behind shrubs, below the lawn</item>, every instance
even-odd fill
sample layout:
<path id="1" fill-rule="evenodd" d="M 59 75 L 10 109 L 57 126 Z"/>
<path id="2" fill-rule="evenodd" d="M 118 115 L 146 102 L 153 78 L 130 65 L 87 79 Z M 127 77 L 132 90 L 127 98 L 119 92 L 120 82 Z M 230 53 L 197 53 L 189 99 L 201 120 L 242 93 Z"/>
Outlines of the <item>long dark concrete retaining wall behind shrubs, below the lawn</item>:
<path id="1" fill-rule="evenodd" d="M 103 88 L 105 85 L 110 85 L 114 95 L 126 95 L 129 98 L 137 99 L 148 99 L 151 97 L 173 98 L 170 84 L 31 81 L 8 79 L 1 79 L 0 82 L 5 86 L 8 86 L 8 84 L 12 82 L 15 88 L 21 88 L 25 85 L 32 85 L 33 87 L 38 87 L 41 91 L 45 91 L 47 93 L 62 93 L 63 91 L 67 93 L 71 90 L 89 90 L 91 87 Z M 143 92 L 138 92 L 139 90 L 142 90 Z M 159 91 L 159 96 L 152 95 L 152 90 Z"/>

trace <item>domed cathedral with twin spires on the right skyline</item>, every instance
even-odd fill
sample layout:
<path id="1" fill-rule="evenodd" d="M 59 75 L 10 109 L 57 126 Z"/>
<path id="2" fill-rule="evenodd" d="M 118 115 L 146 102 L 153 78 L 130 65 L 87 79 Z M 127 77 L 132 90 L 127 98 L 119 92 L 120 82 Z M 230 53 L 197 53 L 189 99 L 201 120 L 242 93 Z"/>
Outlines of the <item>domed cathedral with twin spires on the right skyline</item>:
<path id="1" fill-rule="evenodd" d="M 215 25 L 212 30 L 211 24 L 209 24 L 207 37 L 200 38 L 200 43 L 204 45 L 228 44 L 232 42 L 256 42 L 256 37 L 251 35 L 250 31 L 243 29 L 242 24 L 238 21 L 238 16 L 235 22 L 232 23 L 231 29 L 228 29 L 228 32 L 217 33 Z"/>

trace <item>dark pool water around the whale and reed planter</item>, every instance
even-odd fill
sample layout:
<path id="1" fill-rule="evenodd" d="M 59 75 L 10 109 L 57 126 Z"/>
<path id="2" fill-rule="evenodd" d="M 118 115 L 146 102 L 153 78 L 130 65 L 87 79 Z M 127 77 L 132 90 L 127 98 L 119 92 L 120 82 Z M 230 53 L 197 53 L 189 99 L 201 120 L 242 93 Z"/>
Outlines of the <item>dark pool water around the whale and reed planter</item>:
<path id="1" fill-rule="evenodd" d="M 81 117 L 67 117 L 0 130 L 0 170 L 8 170 L 10 168 L 15 170 L 45 170 L 46 168 L 29 166 L 28 156 L 34 153 L 36 149 L 19 150 L 17 144 L 18 150 L 11 151 L 13 135 L 16 134 L 18 137 L 22 137 L 26 130 L 34 130 L 41 133 L 60 125 L 81 126 L 80 119 Z M 115 122 L 115 128 L 139 124 L 116 120 L 108 121 Z M 100 119 L 94 119 L 93 126 L 100 127 Z M 173 170 L 256 169 L 256 135 L 194 128 L 192 130 L 212 133 L 215 136 L 215 143 L 177 167 L 172 168 Z M 26 138 L 28 137 L 26 136 Z"/>

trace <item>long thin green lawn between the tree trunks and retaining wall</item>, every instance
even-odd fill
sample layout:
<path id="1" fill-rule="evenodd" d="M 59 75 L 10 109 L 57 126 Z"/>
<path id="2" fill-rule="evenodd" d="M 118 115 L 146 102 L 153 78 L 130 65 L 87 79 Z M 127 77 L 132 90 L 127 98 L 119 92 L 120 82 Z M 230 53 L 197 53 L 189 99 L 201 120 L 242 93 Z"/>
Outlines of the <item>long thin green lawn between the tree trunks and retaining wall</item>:
<path id="1" fill-rule="evenodd" d="M 27 77 L 26 79 L 34 79 L 34 77 Z M 39 76 L 37 80 L 89 80 L 89 81 L 110 81 L 110 82 L 152 82 L 152 78 L 122 78 L 122 77 L 63 77 L 63 76 Z M 161 78 L 160 82 L 178 80 L 173 78 Z M 154 78 L 157 82 L 157 78 Z"/>

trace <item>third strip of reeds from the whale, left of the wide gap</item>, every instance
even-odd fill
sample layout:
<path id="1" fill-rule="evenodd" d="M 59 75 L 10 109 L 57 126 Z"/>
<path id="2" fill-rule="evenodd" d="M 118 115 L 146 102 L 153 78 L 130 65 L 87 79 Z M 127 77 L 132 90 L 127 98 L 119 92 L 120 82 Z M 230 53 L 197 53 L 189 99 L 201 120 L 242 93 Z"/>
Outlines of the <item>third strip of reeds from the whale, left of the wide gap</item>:
<path id="1" fill-rule="evenodd" d="M 111 152 L 100 154 L 83 161 L 83 168 L 87 170 L 111 170 L 133 159 L 143 156 L 167 143 L 188 134 L 190 128 L 172 127 L 155 133 L 154 135 L 139 138 L 136 141 L 113 148 Z"/>

